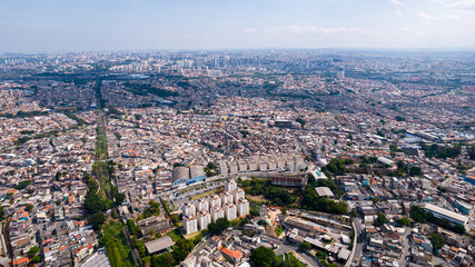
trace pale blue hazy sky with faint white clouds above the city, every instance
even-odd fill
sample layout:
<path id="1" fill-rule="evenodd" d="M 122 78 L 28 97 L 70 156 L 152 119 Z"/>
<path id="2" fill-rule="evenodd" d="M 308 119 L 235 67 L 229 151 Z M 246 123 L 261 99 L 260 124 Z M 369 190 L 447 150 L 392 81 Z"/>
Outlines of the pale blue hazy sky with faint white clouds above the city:
<path id="1" fill-rule="evenodd" d="M 0 0 L 0 52 L 474 49 L 475 0 Z"/>

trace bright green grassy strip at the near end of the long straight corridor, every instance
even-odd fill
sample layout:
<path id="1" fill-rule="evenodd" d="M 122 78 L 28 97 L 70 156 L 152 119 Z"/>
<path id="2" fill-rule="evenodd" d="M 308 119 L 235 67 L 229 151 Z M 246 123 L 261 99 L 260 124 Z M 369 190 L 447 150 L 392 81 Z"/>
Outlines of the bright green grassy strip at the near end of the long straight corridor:
<path id="1" fill-rule="evenodd" d="M 126 237 L 122 233 L 122 226 L 115 221 L 103 227 L 101 243 L 106 244 L 107 256 L 111 266 L 129 267 L 135 266 L 131 251 L 127 246 Z"/>

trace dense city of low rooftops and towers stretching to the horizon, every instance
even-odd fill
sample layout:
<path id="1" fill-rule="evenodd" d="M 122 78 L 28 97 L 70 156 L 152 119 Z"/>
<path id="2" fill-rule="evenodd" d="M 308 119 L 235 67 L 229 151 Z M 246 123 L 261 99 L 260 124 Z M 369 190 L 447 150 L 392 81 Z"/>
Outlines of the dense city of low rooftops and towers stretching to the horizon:
<path id="1" fill-rule="evenodd" d="M 475 55 L 0 55 L 0 266 L 475 266 Z"/>

